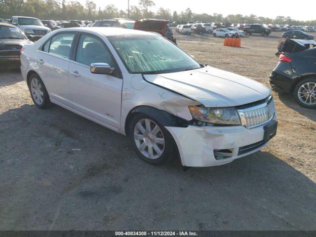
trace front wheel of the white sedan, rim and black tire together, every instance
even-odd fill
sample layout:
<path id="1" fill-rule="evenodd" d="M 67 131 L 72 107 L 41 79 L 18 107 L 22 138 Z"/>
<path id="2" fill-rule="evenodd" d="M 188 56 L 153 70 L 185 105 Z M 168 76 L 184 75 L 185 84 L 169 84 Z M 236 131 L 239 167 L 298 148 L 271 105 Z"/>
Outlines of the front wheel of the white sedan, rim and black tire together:
<path id="1" fill-rule="evenodd" d="M 158 132 L 154 135 L 149 130 Z M 176 156 L 173 138 L 154 118 L 143 114 L 135 116 L 130 123 L 129 136 L 136 154 L 147 163 L 160 165 Z"/>

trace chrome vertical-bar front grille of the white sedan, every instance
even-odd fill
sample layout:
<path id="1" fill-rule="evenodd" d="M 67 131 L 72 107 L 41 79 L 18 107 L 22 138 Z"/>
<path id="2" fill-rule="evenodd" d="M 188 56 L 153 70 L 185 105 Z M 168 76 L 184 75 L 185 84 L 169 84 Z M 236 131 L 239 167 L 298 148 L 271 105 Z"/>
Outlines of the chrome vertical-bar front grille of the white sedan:
<path id="1" fill-rule="evenodd" d="M 258 127 L 269 122 L 274 117 L 275 112 L 272 98 L 263 104 L 238 110 L 241 124 L 246 128 Z"/>

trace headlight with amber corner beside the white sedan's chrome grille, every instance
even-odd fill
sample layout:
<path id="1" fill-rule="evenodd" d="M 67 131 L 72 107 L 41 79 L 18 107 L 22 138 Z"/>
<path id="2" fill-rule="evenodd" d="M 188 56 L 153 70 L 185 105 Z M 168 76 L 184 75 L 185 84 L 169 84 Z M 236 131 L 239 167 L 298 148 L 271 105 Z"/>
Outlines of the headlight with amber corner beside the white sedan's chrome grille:
<path id="1" fill-rule="evenodd" d="M 190 113 L 193 118 L 198 121 L 225 124 L 239 125 L 239 116 L 235 108 L 206 108 L 203 106 L 189 106 Z"/>

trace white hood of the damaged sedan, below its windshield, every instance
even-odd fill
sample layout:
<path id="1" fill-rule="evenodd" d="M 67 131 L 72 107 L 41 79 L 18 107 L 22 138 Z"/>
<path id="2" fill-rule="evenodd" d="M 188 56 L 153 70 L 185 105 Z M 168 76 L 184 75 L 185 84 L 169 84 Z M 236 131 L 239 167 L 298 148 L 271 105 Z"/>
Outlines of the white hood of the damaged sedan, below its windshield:
<path id="1" fill-rule="evenodd" d="M 244 105 L 269 96 L 263 84 L 210 66 L 159 75 L 144 75 L 156 85 L 196 100 L 206 107 Z"/>

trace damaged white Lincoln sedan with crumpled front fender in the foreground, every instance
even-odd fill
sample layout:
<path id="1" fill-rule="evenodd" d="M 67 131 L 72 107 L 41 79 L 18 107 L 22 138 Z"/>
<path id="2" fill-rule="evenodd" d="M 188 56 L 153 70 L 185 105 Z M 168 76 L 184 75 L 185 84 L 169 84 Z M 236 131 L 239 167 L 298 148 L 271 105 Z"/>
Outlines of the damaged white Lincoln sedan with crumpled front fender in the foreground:
<path id="1" fill-rule="evenodd" d="M 270 90 L 198 64 L 165 38 L 120 28 L 56 30 L 21 50 L 39 108 L 60 105 L 121 134 L 151 164 L 214 166 L 276 134 Z"/>

